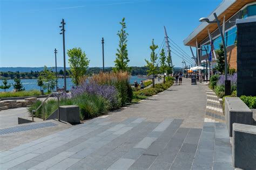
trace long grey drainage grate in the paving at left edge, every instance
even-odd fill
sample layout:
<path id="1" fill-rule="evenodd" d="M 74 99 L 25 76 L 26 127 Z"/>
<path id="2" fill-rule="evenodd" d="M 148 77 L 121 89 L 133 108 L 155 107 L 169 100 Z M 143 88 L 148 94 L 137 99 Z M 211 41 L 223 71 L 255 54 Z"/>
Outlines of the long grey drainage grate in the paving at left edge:
<path id="1" fill-rule="evenodd" d="M 33 130 L 33 129 L 47 128 L 47 127 L 51 127 L 51 126 L 57 126 L 57 124 L 52 123 L 52 122 L 46 122 L 46 123 L 37 123 L 37 124 L 30 124 L 30 125 L 23 125 L 23 126 L 15 126 L 12 128 L 0 129 L 0 135 L 28 131 L 28 130 Z"/>

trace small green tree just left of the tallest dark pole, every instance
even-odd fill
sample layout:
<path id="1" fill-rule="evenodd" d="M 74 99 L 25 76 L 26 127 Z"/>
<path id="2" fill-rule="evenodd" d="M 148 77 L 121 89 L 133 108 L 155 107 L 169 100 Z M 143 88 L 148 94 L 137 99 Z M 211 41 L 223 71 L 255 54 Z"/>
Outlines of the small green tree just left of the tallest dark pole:
<path id="1" fill-rule="evenodd" d="M 44 66 L 44 70 L 39 74 L 39 79 L 43 80 L 43 89 L 48 89 L 48 93 L 56 86 L 55 73 L 51 72 L 51 69 L 48 69 L 46 66 Z"/>

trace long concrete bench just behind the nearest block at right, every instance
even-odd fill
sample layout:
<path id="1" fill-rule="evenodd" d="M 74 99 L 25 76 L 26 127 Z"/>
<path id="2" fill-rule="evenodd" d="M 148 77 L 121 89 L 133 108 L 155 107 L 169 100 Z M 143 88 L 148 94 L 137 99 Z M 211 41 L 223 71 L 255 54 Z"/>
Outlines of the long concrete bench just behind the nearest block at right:
<path id="1" fill-rule="evenodd" d="M 252 125 L 252 110 L 239 97 L 225 97 L 225 118 L 227 130 L 232 137 L 232 124 Z"/>

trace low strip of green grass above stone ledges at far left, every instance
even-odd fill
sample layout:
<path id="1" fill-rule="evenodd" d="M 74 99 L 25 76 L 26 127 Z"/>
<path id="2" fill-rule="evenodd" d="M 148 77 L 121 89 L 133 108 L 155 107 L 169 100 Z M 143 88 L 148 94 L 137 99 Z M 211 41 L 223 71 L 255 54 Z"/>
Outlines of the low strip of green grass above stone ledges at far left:
<path id="1" fill-rule="evenodd" d="M 0 92 L 0 98 L 4 98 L 4 97 L 38 96 L 38 95 L 41 95 L 40 91 L 38 91 L 38 90 Z"/>

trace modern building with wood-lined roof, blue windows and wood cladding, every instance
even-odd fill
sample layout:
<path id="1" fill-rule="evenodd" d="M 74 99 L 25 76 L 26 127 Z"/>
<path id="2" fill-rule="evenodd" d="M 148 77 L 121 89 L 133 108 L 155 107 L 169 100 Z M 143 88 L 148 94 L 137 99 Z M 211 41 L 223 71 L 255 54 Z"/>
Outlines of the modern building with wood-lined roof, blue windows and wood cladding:
<path id="1" fill-rule="evenodd" d="M 222 31 L 227 47 L 227 61 L 230 68 L 237 69 L 237 19 L 256 17 L 255 0 L 224 0 L 207 18 L 214 20 L 213 13 L 216 13 L 221 21 Z M 204 16 L 202 16 L 204 17 Z M 196 47 L 199 65 L 208 59 L 207 53 L 211 52 L 210 37 L 213 40 L 214 49 L 219 49 L 222 44 L 217 24 L 201 23 L 185 40 L 184 45 Z M 201 49 L 205 49 L 203 51 Z M 216 54 L 216 59 L 218 55 Z M 215 67 L 216 59 L 212 54 L 212 67 Z"/>

